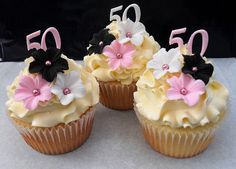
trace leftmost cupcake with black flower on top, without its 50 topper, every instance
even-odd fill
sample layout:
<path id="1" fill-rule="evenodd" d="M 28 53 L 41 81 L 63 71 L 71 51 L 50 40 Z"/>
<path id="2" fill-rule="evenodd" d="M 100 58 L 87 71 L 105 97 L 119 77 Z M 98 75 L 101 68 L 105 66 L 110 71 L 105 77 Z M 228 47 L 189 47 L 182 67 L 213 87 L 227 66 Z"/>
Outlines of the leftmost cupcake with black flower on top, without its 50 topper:
<path id="1" fill-rule="evenodd" d="M 25 142 L 44 154 L 62 154 L 89 137 L 94 106 L 99 101 L 96 79 L 60 49 L 38 49 L 8 86 L 7 113 Z"/>

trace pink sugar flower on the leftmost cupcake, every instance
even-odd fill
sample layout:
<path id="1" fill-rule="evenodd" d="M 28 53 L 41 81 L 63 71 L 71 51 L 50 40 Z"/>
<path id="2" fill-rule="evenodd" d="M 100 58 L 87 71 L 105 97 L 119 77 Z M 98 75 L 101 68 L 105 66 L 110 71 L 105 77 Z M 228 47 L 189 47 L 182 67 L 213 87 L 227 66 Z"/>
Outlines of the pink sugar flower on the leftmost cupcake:
<path id="1" fill-rule="evenodd" d="M 25 108 L 34 110 L 38 107 L 39 101 L 48 101 L 52 97 L 50 83 L 40 75 L 21 76 L 19 86 L 16 88 L 15 99 L 23 101 Z"/>

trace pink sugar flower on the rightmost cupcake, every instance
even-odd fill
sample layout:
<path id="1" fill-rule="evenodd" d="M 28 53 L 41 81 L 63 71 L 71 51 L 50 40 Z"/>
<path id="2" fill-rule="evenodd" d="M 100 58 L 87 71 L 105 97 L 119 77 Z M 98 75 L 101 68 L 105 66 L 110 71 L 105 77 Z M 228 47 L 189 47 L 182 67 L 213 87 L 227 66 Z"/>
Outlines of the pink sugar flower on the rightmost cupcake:
<path id="1" fill-rule="evenodd" d="M 191 75 L 181 74 L 167 80 L 170 89 L 167 91 L 169 100 L 183 99 L 189 105 L 195 105 L 200 95 L 205 92 L 205 84 L 202 80 L 195 80 Z"/>

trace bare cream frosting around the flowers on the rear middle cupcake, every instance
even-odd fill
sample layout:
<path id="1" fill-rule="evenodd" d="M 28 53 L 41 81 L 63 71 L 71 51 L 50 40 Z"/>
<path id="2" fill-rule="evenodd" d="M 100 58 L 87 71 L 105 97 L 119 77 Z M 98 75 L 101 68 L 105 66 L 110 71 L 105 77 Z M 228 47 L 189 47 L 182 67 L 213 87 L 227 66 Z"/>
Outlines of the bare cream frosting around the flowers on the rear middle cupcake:
<path id="1" fill-rule="evenodd" d="M 117 22 L 112 22 L 107 26 L 107 28 L 111 34 L 118 38 L 119 31 L 117 28 Z M 128 68 L 112 70 L 108 65 L 108 58 L 103 54 L 87 55 L 84 57 L 84 63 L 86 65 L 86 69 L 100 81 L 119 81 L 122 84 L 129 85 L 139 79 L 146 68 L 146 63 L 159 49 L 159 44 L 152 36 L 149 36 L 146 33 L 144 35 L 144 41 L 142 45 L 135 47 L 133 61 L 131 66 Z"/>

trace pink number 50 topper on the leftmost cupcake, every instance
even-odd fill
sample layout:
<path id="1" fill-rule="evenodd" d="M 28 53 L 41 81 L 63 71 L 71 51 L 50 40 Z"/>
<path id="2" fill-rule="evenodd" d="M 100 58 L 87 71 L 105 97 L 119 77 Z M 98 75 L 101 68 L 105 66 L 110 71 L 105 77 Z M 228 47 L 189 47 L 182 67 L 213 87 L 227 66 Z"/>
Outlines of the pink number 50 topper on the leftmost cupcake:
<path id="1" fill-rule="evenodd" d="M 59 32 L 57 31 L 56 28 L 54 27 L 50 27 L 48 28 L 44 33 L 43 33 L 43 36 L 42 36 L 42 39 L 41 39 L 41 44 L 38 43 L 38 42 L 30 42 L 31 39 L 39 36 L 41 34 L 41 30 L 38 30 L 36 32 L 33 32 L 29 35 L 26 36 L 26 45 L 27 45 L 27 49 L 30 50 L 30 49 L 43 49 L 44 51 L 47 50 L 47 45 L 46 45 L 46 35 L 47 33 L 51 32 L 53 37 L 54 37 L 54 40 L 56 42 L 56 47 L 58 49 L 61 48 L 61 38 L 60 38 L 60 34 Z"/>

